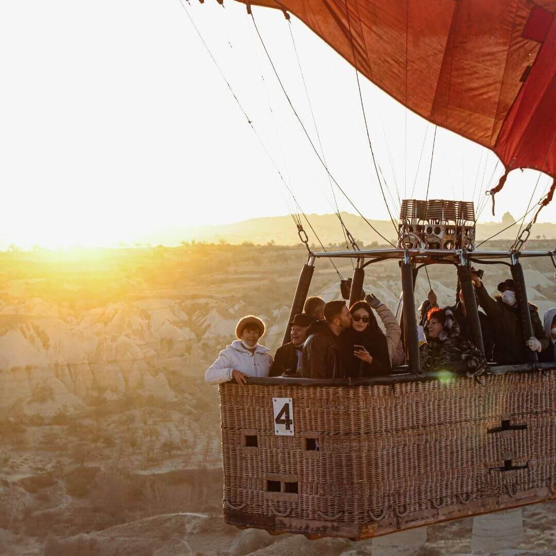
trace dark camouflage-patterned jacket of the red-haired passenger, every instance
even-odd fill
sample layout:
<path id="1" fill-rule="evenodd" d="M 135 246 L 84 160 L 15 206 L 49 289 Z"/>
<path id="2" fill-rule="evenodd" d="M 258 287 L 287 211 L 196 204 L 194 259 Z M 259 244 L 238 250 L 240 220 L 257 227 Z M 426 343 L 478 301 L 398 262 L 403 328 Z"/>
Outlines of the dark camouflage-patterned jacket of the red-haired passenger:
<path id="1" fill-rule="evenodd" d="M 458 322 L 450 307 L 444 308 L 446 320 L 436 338 L 429 337 L 425 329 L 426 344 L 421 345 L 421 370 L 458 371 L 462 366 L 467 376 L 477 376 L 488 369 L 485 356 L 469 340 L 460 334 Z M 465 364 L 465 365 L 461 365 Z"/>

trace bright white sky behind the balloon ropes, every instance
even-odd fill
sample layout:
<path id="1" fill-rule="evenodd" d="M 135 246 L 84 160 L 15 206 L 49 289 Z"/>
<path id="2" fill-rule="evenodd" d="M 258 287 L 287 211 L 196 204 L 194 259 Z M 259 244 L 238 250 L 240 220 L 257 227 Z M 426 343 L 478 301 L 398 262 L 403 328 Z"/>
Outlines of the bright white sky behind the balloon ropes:
<path id="1" fill-rule="evenodd" d="M 253 12 L 330 173 L 366 217 L 387 219 L 353 67 L 294 17 L 290 27 L 279 11 Z M 166 227 L 288 214 L 292 196 L 307 214 L 336 202 L 355 212 L 331 187 L 244 4 L 5 0 L 0 48 L 2 245 L 131 243 Z M 483 204 L 502 174 L 492 152 L 438 128 L 431 166 L 435 127 L 364 77 L 361 86 L 394 219 L 399 199 L 424 198 L 428 184 L 429 198 Z M 489 201 L 479 220 L 522 216 L 548 183 L 510 173 L 496 216 Z M 539 217 L 555 219 L 556 203 Z"/>

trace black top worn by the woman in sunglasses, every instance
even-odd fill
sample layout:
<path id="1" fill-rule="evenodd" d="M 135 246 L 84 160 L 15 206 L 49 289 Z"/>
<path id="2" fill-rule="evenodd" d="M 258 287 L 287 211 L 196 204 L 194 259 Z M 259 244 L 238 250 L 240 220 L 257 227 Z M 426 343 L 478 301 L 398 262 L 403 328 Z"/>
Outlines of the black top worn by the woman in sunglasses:
<path id="1" fill-rule="evenodd" d="M 376 321 L 375 321 L 376 324 Z M 346 328 L 340 334 L 342 344 L 343 360 L 347 365 L 346 376 L 354 378 L 366 376 L 380 376 L 390 373 L 390 355 L 386 336 L 376 325 L 376 329 L 369 323 L 363 332 L 353 328 Z M 363 346 L 373 357 L 370 365 L 356 358 L 354 346 Z"/>

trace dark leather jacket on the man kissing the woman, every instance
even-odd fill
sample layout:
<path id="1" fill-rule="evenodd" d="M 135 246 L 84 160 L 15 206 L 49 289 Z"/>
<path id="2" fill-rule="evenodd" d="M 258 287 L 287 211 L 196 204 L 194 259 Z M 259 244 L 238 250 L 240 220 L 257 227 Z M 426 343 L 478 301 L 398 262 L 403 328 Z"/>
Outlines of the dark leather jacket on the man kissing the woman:
<path id="1" fill-rule="evenodd" d="M 301 375 L 308 379 L 342 379 L 347 365 L 340 339 L 325 320 L 313 322 L 303 345 Z"/>

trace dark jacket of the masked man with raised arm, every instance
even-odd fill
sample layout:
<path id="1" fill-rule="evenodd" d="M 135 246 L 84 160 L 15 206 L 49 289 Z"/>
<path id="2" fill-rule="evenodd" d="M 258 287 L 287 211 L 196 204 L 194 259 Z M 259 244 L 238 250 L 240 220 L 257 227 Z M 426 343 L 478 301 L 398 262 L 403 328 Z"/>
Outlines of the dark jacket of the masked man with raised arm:
<path id="1" fill-rule="evenodd" d="M 527 338 L 523 337 L 523 326 L 519 317 L 519 307 L 516 303 L 510 307 L 502 301 L 502 297 L 490 297 L 484 285 L 477 288 L 479 305 L 489 317 L 494 336 L 494 361 L 503 365 L 525 363 L 525 345 Z M 535 305 L 529 304 L 533 334 L 540 341 L 542 349 L 547 349 L 549 340 L 540 322 L 539 312 Z"/>

